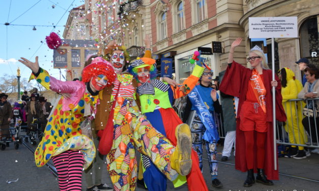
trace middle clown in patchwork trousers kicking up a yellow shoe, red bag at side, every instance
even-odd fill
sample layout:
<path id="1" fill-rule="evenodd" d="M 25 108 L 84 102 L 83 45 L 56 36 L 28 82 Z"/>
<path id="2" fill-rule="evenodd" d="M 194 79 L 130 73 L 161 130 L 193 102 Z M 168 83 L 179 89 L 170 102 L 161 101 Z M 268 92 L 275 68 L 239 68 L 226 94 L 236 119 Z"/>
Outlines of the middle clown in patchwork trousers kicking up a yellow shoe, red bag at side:
<path id="1" fill-rule="evenodd" d="M 137 162 L 135 148 L 146 157 L 151 158 L 157 169 L 168 179 L 175 180 L 179 174 L 186 175 L 190 166 L 184 163 L 183 156 L 189 155 L 190 134 L 185 134 L 188 127 L 180 125 L 176 136 L 180 140 L 177 147 L 157 132 L 140 115 L 135 103 L 133 77 L 122 73 L 121 56 L 128 58 L 125 48 L 118 45 L 109 46 L 105 55 L 111 60 L 117 72 L 113 88 L 106 87 L 100 93 L 101 104 L 98 106 L 95 129 L 101 137 L 99 152 L 106 155 L 107 170 L 110 174 L 114 190 L 135 190 Z M 125 63 L 125 61 L 123 62 Z M 106 117 L 105 117 L 106 116 Z M 101 131 L 102 130 L 102 131 Z M 173 170 L 175 169 L 175 170 Z"/>

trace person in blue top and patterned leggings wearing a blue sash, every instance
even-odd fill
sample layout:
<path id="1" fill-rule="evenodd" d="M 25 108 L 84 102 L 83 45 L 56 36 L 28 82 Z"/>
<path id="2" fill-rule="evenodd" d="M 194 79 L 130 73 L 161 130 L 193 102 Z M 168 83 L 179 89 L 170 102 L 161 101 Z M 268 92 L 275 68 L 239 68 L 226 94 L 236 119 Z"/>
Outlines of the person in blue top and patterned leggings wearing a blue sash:
<path id="1" fill-rule="evenodd" d="M 219 140 L 219 137 L 209 137 L 207 136 L 210 128 L 214 128 L 215 135 L 218 135 L 217 132 L 217 123 L 214 120 L 214 114 L 221 113 L 221 106 L 219 105 L 219 95 L 217 93 L 216 89 L 213 89 L 210 87 L 210 83 L 212 81 L 213 72 L 206 68 L 205 71 L 202 73 L 200 79 L 199 79 L 199 85 L 196 85 L 194 89 L 188 94 L 187 97 L 187 104 L 185 107 L 185 115 L 183 117 L 183 122 L 186 122 L 186 119 L 191 117 L 192 119 L 189 119 L 190 121 L 190 129 L 192 133 L 192 146 L 193 148 L 197 148 L 197 155 L 199 159 L 199 168 L 202 172 L 202 154 L 203 154 L 203 144 L 206 146 L 207 154 L 208 154 L 208 162 L 209 162 L 209 170 L 211 173 L 212 178 L 212 185 L 214 187 L 222 187 L 223 184 L 220 182 L 220 180 L 217 178 L 218 172 L 217 172 L 217 141 Z M 193 94 L 194 93 L 194 94 Z M 198 103 L 195 102 L 196 100 L 201 100 L 201 106 L 206 106 L 205 108 L 200 108 L 198 106 Z M 196 103 L 196 104 L 195 104 Z M 200 108 L 200 109 L 199 109 Z M 189 112 L 195 112 L 194 115 L 188 115 Z M 203 118 L 202 114 L 209 113 L 210 116 L 206 116 L 206 118 Z M 209 118 L 209 119 L 207 119 Z M 213 125 L 209 125 L 207 121 L 211 120 Z"/>

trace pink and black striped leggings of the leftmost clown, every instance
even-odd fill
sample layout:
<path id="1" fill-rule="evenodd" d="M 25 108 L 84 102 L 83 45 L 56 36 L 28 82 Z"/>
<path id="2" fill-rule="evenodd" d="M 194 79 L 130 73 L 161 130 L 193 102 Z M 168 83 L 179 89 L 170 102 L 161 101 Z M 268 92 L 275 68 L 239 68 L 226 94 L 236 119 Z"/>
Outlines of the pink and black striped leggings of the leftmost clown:
<path id="1" fill-rule="evenodd" d="M 83 153 L 67 150 L 52 157 L 61 191 L 82 189 Z"/>

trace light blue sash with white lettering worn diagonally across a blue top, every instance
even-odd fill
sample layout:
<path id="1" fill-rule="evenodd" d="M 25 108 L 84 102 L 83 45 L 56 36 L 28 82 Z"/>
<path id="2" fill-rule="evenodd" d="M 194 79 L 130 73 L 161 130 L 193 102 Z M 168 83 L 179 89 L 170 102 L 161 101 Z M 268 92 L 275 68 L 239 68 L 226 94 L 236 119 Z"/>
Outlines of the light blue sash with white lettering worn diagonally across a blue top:
<path id="1" fill-rule="evenodd" d="M 188 94 L 188 98 L 194 106 L 201 122 L 205 125 L 206 131 L 204 133 L 203 139 L 209 143 L 212 143 L 214 140 L 217 142 L 219 140 L 219 135 L 216 129 L 215 120 L 202 101 L 197 87 L 194 87 L 194 89 Z"/>

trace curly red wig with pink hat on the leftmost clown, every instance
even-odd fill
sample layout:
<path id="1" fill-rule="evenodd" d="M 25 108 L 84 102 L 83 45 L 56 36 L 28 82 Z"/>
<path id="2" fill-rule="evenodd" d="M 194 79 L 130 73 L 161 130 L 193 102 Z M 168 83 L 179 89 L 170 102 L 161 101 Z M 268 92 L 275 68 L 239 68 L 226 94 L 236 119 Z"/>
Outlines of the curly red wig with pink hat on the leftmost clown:
<path id="1" fill-rule="evenodd" d="M 91 64 L 86 66 L 82 71 L 82 81 L 89 82 L 92 77 L 103 74 L 107 78 L 107 85 L 113 84 L 116 75 L 112 65 L 102 57 L 96 57 Z"/>

